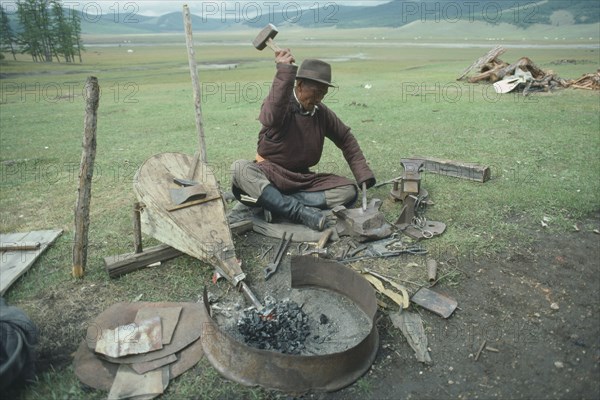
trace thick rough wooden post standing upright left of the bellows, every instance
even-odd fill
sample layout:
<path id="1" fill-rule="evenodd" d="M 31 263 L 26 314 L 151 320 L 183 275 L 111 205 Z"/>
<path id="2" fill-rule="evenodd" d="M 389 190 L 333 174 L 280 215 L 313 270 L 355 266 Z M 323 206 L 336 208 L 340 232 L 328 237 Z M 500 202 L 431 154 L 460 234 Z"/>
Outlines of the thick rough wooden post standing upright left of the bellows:
<path id="1" fill-rule="evenodd" d="M 85 82 L 85 119 L 83 131 L 83 154 L 79 167 L 79 187 L 75 203 L 75 237 L 73 239 L 73 276 L 83 278 L 87 263 L 88 229 L 90 225 L 90 200 L 92 198 L 92 176 L 96 158 L 96 125 L 100 87 L 94 76 Z"/>

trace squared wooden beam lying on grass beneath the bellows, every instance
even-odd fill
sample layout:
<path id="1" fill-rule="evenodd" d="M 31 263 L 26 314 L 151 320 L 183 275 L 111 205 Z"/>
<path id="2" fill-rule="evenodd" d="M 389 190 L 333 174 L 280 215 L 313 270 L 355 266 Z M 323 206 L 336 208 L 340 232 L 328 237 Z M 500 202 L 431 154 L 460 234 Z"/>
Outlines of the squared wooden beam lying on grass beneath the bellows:
<path id="1" fill-rule="evenodd" d="M 150 264 L 179 257 L 182 254 L 182 252 L 172 248 L 171 246 L 161 244 L 158 246 L 149 247 L 141 253 L 127 253 L 105 257 L 104 265 L 108 275 L 111 278 L 116 278 L 129 272 L 145 268 Z"/>

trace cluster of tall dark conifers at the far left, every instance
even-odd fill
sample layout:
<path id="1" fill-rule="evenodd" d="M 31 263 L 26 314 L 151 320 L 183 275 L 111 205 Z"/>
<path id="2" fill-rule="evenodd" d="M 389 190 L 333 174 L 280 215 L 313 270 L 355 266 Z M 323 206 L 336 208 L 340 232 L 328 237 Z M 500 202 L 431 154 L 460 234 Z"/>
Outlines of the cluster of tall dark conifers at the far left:
<path id="1" fill-rule="evenodd" d="M 76 11 L 65 13 L 57 0 L 19 0 L 17 3 L 19 30 L 12 33 L 9 18 L 1 10 L 2 48 L 30 54 L 36 62 L 81 62 L 81 22 Z M 2 7 L 0 6 L 0 9 Z"/>

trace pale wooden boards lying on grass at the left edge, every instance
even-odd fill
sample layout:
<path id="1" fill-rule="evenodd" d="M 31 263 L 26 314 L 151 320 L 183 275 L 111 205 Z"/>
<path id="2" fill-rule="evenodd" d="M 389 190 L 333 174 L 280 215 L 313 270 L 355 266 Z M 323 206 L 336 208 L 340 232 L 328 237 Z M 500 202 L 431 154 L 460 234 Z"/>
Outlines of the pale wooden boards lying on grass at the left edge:
<path id="1" fill-rule="evenodd" d="M 62 229 L 31 231 L 21 233 L 0 234 L 0 243 L 19 245 L 23 243 L 40 243 L 35 250 L 6 250 L 0 259 L 0 295 L 23 275 L 35 260 L 58 238 Z"/>

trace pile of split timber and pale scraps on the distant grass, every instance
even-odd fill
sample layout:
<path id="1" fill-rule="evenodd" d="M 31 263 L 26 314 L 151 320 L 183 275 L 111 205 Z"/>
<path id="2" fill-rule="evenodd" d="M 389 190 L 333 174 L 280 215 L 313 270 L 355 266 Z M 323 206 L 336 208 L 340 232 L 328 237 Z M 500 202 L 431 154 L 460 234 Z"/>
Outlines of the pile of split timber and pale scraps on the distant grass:
<path id="1" fill-rule="evenodd" d="M 531 74 L 531 78 L 521 85 L 523 94 L 530 91 L 542 90 L 550 91 L 556 88 L 573 87 L 577 89 L 600 90 L 600 70 L 593 74 L 587 74 L 577 80 L 565 80 L 560 78 L 552 70 L 543 70 L 534 64 L 531 59 L 521 57 L 515 63 L 508 64 L 501 60 L 499 56 L 504 54 L 506 49 L 502 46 L 496 46 L 487 54 L 476 60 L 467 67 L 457 80 L 467 80 L 469 83 L 496 83 L 511 77 L 517 77 L 523 73 Z M 520 70 L 520 71 L 517 71 Z M 471 71 L 477 71 L 476 75 L 468 76 Z"/>

